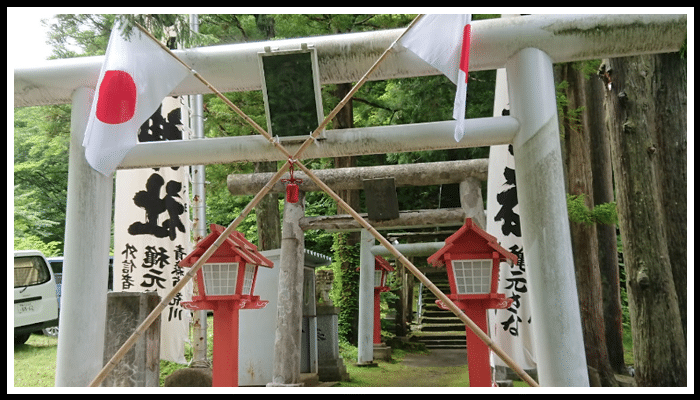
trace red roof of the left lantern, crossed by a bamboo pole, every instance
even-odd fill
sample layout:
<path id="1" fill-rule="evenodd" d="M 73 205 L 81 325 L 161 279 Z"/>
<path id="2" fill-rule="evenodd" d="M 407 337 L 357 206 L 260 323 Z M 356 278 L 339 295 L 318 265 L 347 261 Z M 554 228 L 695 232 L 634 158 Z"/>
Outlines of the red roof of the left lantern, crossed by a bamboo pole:
<path id="1" fill-rule="evenodd" d="M 183 258 L 179 265 L 191 267 L 204 255 L 207 249 L 224 233 L 225 227 L 212 224 L 209 226 L 211 233 L 197 243 L 195 249 Z M 211 255 L 208 262 L 231 262 L 234 260 L 245 261 L 247 264 L 272 268 L 274 263 L 263 256 L 257 246 L 250 243 L 245 236 L 233 231 L 218 249 Z"/>

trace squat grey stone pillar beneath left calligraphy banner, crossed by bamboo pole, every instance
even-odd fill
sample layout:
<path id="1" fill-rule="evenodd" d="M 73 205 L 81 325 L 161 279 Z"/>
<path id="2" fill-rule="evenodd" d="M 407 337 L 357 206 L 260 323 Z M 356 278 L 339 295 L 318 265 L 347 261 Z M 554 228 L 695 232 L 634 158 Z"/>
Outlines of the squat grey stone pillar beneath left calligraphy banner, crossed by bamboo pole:
<path id="1" fill-rule="evenodd" d="M 107 295 L 104 363 L 107 364 L 136 328 L 156 308 L 156 292 L 111 292 Z M 136 341 L 101 386 L 157 387 L 160 379 L 160 317 Z"/>

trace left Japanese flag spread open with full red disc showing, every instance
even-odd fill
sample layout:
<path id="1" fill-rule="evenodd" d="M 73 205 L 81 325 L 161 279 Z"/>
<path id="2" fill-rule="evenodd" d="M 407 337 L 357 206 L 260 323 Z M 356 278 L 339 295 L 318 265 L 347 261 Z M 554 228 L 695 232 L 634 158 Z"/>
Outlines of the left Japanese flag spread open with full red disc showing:
<path id="1" fill-rule="evenodd" d="M 85 158 L 111 175 L 137 143 L 138 129 L 189 70 L 143 32 L 128 40 L 115 23 L 85 130 Z"/>

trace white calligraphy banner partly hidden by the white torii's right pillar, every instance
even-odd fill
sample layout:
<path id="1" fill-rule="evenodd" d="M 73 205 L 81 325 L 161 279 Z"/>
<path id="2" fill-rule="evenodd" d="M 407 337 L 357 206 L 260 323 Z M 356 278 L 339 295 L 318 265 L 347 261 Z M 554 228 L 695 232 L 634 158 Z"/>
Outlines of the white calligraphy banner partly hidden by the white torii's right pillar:
<path id="1" fill-rule="evenodd" d="M 496 75 L 494 116 L 508 115 L 507 79 L 504 69 Z M 537 368 L 532 338 L 532 317 L 528 296 L 526 258 L 520 231 L 520 208 L 516 191 L 515 162 L 511 145 L 491 146 L 486 196 L 486 231 L 506 250 L 518 256 L 512 266 L 501 263 L 499 293 L 512 298 L 503 310 L 489 310 L 491 338 L 524 370 Z M 491 365 L 506 368 L 499 357 L 491 355 Z"/>

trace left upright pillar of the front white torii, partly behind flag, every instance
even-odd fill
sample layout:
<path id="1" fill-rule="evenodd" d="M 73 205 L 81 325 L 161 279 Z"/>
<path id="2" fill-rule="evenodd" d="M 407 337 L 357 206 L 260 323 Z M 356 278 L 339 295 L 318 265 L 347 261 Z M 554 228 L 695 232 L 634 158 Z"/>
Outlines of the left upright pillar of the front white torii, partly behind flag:
<path id="1" fill-rule="evenodd" d="M 88 386 L 104 365 L 114 180 L 85 159 L 83 137 L 94 93 L 83 87 L 73 94 L 56 386 Z"/>

